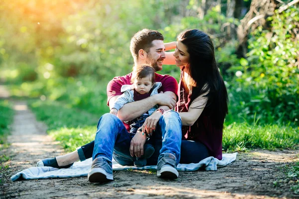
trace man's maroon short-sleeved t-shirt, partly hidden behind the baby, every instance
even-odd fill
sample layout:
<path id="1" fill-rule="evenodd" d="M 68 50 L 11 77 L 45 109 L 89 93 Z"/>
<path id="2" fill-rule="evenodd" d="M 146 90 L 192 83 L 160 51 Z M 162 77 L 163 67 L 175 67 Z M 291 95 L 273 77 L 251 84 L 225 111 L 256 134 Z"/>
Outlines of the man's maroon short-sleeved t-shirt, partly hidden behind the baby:
<path id="1" fill-rule="evenodd" d="M 113 80 L 111 80 L 108 85 L 107 85 L 107 97 L 108 97 L 108 100 L 107 100 L 107 105 L 109 106 L 109 101 L 112 97 L 114 96 L 120 96 L 122 95 L 122 92 L 121 92 L 121 88 L 123 85 L 131 85 L 131 77 L 132 77 L 132 73 L 128 74 L 128 75 L 125 75 L 125 76 L 122 76 L 122 77 L 115 77 L 113 78 Z M 170 91 L 174 94 L 176 94 L 177 92 L 177 82 L 176 80 L 169 76 L 169 75 L 160 75 L 160 74 L 157 74 L 155 73 L 155 82 L 160 82 L 162 84 L 162 86 L 158 89 L 158 93 L 159 92 L 167 92 L 167 91 Z M 145 98 L 147 98 L 149 96 L 147 95 L 139 95 L 139 96 L 136 96 L 134 95 L 134 98 L 136 98 L 135 100 L 138 101 L 138 100 L 143 100 Z M 127 124 L 127 123 L 124 123 L 127 130 L 129 131 L 130 130 L 130 125 Z"/>

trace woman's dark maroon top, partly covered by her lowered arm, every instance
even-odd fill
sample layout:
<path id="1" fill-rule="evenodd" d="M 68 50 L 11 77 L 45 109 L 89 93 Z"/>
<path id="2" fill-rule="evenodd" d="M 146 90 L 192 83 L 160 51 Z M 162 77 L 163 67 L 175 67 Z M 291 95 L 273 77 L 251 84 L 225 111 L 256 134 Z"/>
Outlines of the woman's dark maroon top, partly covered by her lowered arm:
<path id="1" fill-rule="evenodd" d="M 175 107 L 177 112 L 187 112 L 190 104 L 190 95 L 182 84 L 182 73 L 178 83 L 178 102 Z M 211 156 L 222 160 L 222 132 L 223 129 L 215 128 L 209 117 L 209 108 L 205 107 L 192 126 L 182 126 L 182 139 L 194 140 L 204 144 Z"/>

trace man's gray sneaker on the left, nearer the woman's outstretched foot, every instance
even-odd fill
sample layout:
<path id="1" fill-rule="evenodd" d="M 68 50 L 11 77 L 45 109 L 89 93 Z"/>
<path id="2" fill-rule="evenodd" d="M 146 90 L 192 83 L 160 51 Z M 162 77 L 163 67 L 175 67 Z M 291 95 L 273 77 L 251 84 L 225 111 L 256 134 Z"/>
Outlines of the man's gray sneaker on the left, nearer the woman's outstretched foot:
<path id="1" fill-rule="evenodd" d="M 91 183 L 113 181 L 112 163 L 102 157 L 94 159 L 88 173 L 88 180 Z"/>

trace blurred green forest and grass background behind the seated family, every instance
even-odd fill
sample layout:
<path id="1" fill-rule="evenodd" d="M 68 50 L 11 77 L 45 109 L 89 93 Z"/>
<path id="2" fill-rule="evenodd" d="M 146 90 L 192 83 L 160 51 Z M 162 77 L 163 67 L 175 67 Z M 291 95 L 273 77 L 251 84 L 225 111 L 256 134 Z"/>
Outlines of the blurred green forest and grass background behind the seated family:
<path id="1" fill-rule="evenodd" d="M 109 112 L 106 86 L 132 71 L 131 37 L 208 33 L 229 94 L 223 150 L 299 143 L 299 0 L 1 0 L 0 82 L 69 151 Z M 158 72 L 179 78 L 179 69 Z M 11 103 L 0 100 L 1 135 Z M 5 136 L 4 136 L 5 137 Z M 1 137 L 1 143 L 5 138 Z"/>

